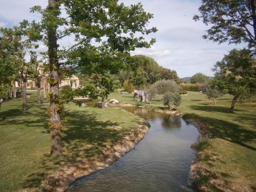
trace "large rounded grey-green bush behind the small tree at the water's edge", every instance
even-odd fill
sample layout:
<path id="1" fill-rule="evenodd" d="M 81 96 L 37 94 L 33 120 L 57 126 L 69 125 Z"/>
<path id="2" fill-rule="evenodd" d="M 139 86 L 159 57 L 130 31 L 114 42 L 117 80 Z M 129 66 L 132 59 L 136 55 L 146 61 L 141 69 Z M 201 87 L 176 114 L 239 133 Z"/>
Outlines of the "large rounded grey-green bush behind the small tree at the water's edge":
<path id="1" fill-rule="evenodd" d="M 180 91 L 180 86 L 174 80 L 159 80 L 154 83 L 157 89 L 157 94 L 164 94 L 167 92 L 176 93 Z"/>

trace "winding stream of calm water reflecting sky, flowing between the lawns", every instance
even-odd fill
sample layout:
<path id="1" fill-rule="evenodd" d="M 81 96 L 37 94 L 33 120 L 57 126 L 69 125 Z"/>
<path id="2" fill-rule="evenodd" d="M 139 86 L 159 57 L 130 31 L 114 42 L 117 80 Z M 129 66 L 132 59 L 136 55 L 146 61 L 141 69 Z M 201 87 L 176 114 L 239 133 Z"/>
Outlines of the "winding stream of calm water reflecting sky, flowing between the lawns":
<path id="1" fill-rule="evenodd" d="M 134 150 L 109 167 L 73 182 L 66 191 L 192 191 L 187 176 L 198 137 L 182 118 L 148 108 L 125 107 L 145 118 L 150 130 Z"/>

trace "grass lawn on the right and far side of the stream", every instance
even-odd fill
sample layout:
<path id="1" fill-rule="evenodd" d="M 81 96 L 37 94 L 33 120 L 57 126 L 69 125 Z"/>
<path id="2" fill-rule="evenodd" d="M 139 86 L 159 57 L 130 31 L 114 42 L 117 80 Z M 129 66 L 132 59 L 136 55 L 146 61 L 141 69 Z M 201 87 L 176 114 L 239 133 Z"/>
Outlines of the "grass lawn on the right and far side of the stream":
<path id="1" fill-rule="evenodd" d="M 197 160 L 205 167 L 207 177 L 197 182 L 212 191 L 222 191 L 223 187 L 224 191 L 255 191 L 256 100 L 251 104 L 237 102 L 234 113 L 230 113 L 229 95 L 218 99 L 218 105 L 214 106 L 203 94 L 187 94 L 182 96 L 178 110 L 185 114 L 185 119 L 207 122 L 212 135 L 208 146 L 198 151 Z M 109 99 L 112 98 L 123 103 L 138 103 L 132 94 L 113 93 Z M 153 100 L 152 106 L 163 108 L 161 98 Z"/>

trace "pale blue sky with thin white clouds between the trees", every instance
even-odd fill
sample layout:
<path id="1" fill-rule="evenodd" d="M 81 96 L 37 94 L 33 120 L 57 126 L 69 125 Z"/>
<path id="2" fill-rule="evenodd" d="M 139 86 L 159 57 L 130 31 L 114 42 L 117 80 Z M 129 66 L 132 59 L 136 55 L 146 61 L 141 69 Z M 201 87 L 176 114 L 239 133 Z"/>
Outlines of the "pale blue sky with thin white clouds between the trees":
<path id="1" fill-rule="evenodd" d="M 122 0 L 125 5 L 142 3 L 146 12 L 153 13 L 148 27 L 158 31 L 146 39 L 156 38 L 150 49 L 136 49 L 131 54 L 143 54 L 154 58 L 160 66 L 176 70 L 179 77 L 193 76 L 201 72 L 212 76 L 211 68 L 224 54 L 240 45 L 218 45 L 217 42 L 202 38 L 208 29 L 201 21 L 193 20 L 198 13 L 201 0 Z M 0 0 L 0 27 L 18 25 L 23 19 L 38 20 L 36 14 L 29 13 L 34 5 L 45 7 L 48 0 Z M 72 39 L 65 39 L 62 45 L 72 44 Z M 46 49 L 44 45 L 41 50 Z"/>

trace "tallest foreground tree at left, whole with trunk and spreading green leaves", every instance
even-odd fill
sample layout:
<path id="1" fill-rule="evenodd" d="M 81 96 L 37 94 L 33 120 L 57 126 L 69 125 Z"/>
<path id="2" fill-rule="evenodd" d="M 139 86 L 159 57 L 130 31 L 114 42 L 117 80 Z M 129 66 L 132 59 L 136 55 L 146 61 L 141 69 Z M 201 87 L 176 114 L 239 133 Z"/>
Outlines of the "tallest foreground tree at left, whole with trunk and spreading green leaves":
<path id="1" fill-rule="evenodd" d="M 63 9 L 60 9 L 60 6 Z M 64 10 L 65 14 L 62 14 Z M 146 13 L 141 4 L 124 6 L 117 0 L 49 0 L 46 9 L 34 6 L 31 12 L 38 12 L 41 19 L 42 40 L 48 47 L 50 70 L 50 122 L 51 155 L 60 156 L 61 138 L 59 102 L 59 78 L 63 69 L 80 70 L 88 73 L 106 70 L 117 73 L 127 63 L 122 57 L 129 55 L 135 48 L 149 48 L 150 42 L 144 40 L 144 35 L 156 32 L 156 28 L 147 29 L 148 20 L 153 15 Z M 62 15 L 67 15 L 63 17 Z M 44 35 L 46 32 L 47 35 Z M 136 36 L 135 36 L 136 33 Z M 138 36 L 142 34 L 141 36 Z M 75 43 L 60 48 L 57 41 L 66 36 L 74 36 Z M 98 44 L 98 46 L 94 46 Z M 110 56 L 108 56 L 110 53 Z M 126 55 L 126 56 L 125 56 Z M 105 60 L 106 56 L 106 61 Z M 110 58 L 113 58 L 114 61 Z M 116 58 L 120 58 L 116 62 Z M 124 62 L 122 62 L 122 60 Z M 97 62 L 100 61 L 100 62 Z M 121 64 L 122 63 L 122 64 Z M 63 66 L 65 66 L 63 68 Z"/>

